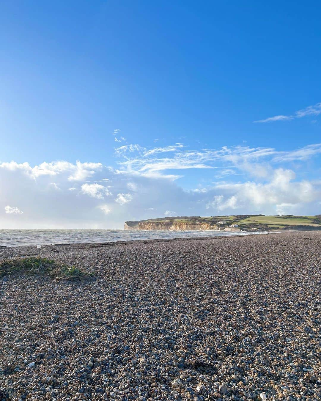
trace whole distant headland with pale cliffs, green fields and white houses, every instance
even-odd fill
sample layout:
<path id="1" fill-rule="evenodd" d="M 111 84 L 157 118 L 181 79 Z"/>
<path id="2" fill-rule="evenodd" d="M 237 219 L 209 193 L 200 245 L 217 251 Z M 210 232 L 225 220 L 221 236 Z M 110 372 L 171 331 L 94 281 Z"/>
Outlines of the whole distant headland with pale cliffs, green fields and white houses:
<path id="1" fill-rule="evenodd" d="M 234 225 L 233 228 L 230 226 Z M 211 217 L 160 217 L 141 221 L 126 221 L 127 230 L 320 230 L 321 215 L 265 216 L 235 215 Z"/>

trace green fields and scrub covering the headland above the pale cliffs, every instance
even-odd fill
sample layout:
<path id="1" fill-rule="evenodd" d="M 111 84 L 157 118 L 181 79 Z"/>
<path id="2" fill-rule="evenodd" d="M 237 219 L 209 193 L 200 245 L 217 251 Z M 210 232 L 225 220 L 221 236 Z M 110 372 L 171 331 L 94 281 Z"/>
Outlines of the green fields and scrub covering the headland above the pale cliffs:
<path id="1" fill-rule="evenodd" d="M 240 229 L 321 229 L 321 215 L 316 216 L 264 216 L 264 215 L 235 215 L 235 216 L 193 216 L 193 217 L 161 217 L 159 219 L 148 219 L 148 222 L 173 222 L 180 223 L 210 223 L 216 224 L 224 221 L 230 225 L 236 223 Z"/>

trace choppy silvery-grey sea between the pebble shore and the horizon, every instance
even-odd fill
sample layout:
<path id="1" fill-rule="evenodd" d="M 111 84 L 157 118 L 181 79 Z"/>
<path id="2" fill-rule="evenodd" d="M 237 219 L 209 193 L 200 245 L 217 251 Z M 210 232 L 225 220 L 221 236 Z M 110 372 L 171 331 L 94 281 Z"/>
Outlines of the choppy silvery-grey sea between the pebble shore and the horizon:
<path id="1" fill-rule="evenodd" d="M 61 243 L 100 243 L 112 241 L 136 241 L 139 239 L 172 239 L 196 237 L 232 237 L 255 235 L 256 232 L 224 231 L 169 231 L 169 230 L 0 230 L 0 246 L 41 246 Z"/>

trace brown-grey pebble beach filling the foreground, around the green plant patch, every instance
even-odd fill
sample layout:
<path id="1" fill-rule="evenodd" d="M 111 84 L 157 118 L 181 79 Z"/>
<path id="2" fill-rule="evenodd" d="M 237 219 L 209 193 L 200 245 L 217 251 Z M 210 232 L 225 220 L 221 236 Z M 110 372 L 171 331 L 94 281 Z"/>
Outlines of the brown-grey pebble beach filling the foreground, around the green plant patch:
<path id="1" fill-rule="evenodd" d="M 321 399 L 321 232 L 0 247 L 0 401 Z"/>

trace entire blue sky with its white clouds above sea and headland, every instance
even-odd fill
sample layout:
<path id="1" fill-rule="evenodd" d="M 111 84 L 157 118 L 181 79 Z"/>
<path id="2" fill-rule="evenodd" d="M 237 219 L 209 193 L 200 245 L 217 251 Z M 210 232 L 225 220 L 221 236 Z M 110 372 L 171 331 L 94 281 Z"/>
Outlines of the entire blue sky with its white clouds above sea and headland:
<path id="1" fill-rule="evenodd" d="M 320 11 L 2 2 L 0 227 L 321 213 Z"/>

